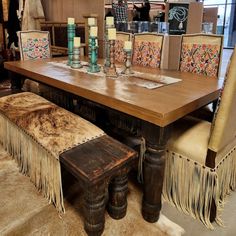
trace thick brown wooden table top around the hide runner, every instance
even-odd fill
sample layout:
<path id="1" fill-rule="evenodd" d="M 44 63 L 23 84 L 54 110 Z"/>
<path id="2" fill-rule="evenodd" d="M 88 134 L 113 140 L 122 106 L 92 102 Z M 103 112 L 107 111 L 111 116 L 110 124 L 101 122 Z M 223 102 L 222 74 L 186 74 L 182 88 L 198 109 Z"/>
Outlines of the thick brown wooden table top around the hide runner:
<path id="1" fill-rule="evenodd" d="M 12 61 L 4 63 L 4 67 L 161 127 L 217 99 L 222 86 L 222 80 L 212 77 L 133 67 L 136 71 L 181 79 L 174 84 L 147 89 L 123 83 L 120 79 L 95 76 L 48 63 L 60 60 L 65 58 Z"/>

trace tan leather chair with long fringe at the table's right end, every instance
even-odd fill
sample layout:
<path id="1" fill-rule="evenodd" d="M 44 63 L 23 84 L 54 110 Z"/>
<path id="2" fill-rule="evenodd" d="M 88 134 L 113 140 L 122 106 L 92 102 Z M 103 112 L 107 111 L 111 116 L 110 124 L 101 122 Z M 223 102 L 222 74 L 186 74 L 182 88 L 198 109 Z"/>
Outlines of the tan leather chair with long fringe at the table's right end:
<path id="1" fill-rule="evenodd" d="M 212 123 L 177 121 L 167 144 L 163 197 L 207 227 L 236 188 L 236 49 Z"/>

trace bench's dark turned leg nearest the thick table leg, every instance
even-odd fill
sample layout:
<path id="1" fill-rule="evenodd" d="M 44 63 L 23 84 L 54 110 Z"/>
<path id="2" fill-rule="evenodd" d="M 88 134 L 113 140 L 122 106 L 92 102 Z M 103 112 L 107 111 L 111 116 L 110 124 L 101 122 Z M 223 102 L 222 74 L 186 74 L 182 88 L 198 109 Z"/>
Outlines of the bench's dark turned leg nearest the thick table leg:
<path id="1" fill-rule="evenodd" d="M 115 177 L 109 185 L 108 213 L 114 219 L 121 219 L 127 210 L 127 174 Z"/>

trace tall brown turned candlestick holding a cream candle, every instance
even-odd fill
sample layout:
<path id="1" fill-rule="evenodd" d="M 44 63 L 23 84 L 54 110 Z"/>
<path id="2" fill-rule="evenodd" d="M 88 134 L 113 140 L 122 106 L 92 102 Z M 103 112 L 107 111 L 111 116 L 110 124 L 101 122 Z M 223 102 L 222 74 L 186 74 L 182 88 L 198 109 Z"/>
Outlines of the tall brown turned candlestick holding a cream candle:
<path id="1" fill-rule="evenodd" d="M 108 29 L 108 40 L 110 45 L 110 66 L 106 69 L 107 77 L 117 77 L 117 71 L 115 66 L 115 40 L 116 40 L 116 28 Z"/>

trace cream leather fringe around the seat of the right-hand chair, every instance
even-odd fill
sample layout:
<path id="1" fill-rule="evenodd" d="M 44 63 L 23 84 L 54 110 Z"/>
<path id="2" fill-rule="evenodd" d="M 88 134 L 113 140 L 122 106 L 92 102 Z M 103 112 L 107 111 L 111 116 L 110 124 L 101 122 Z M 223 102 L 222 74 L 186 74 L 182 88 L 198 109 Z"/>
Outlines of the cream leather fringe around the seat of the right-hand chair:
<path id="1" fill-rule="evenodd" d="M 230 190 L 236 188 L 236 150 L 233 148 L 218 164 L 210 169 L 177 153 L 166 153 L 163 198 L 177 209 L 202 221 L 210 222 L 211 204 L 216 204 L 215 221 L 222 225 L 219 211 Z"/>

